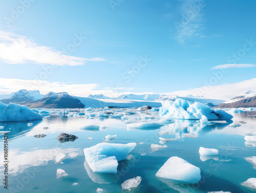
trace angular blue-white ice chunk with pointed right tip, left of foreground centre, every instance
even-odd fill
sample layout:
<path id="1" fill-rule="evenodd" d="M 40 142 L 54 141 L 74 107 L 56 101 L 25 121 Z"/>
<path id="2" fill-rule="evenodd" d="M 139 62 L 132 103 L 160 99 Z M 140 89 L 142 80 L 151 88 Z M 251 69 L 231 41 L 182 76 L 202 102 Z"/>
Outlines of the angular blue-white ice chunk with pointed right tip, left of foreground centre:
<path id="1" fill-rule="evenodd" d="M 124 160 L 132 152 L 136 143 L 98 143 L 84 148 L 84 156 L 94 172 L 116 173 L 118 161 Z"/>

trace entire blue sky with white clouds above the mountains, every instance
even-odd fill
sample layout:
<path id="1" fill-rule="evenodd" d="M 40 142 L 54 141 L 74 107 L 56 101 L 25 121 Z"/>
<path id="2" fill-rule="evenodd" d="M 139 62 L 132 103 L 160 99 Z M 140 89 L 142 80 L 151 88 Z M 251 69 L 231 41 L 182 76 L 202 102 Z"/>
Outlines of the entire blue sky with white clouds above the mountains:
<path id="1" fill-rule="evenodd" d="M 0 94 L 256 92 L 255 1 L 0 2 Z"/>

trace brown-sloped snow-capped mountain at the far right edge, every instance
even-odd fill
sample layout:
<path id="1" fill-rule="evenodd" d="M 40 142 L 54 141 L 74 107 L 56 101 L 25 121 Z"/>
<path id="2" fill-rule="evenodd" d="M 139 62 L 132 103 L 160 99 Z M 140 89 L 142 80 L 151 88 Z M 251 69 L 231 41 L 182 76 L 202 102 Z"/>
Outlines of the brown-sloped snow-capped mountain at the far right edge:
<path id="1" fill-rule="evenodd" d="M 230 100 L 221 103 L 217 108 L 254 108 L 256 107 L 256 93 L 247 91 Z"/>

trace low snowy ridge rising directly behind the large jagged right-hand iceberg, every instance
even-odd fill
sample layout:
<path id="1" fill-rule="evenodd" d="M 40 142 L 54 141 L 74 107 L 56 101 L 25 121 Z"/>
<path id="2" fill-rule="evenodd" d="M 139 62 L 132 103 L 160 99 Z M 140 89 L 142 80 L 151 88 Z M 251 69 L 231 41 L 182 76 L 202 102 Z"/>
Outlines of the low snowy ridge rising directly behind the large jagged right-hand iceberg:
<path id="1" fill-rule="evenodd" d="M 203 96 L 193 96 L 193 95 L 187 95 L 185 97 L 180 97 L 177 95 L 161 95 L 157 100 L 172 100 L 175 101 L 175 99 L 181 98 L 184 100 L 192 101 L 192 102 L 201 102 L 203 104 L 207 104 L 208 106 L 218 106 L 220 103 L 225 102 L 225 100 L 220 100 L 220 99 L 210 99 L 210 98 L 205 98 Z"/>

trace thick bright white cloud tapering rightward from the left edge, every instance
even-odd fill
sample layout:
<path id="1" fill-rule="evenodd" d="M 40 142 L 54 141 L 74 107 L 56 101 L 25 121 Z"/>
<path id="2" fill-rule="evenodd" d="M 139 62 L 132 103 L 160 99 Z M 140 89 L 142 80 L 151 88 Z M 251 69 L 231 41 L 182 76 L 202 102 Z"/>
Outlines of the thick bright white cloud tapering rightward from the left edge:
<path id="1" fill-rule="evenodd" d="M 0 30 L 0 60 L 6 63 L 78 66 L 86 61 L 104 61 L 103 58 L 82 58 L 68 56 L 51 47 L 40 46 L 26 36 Z"/>

